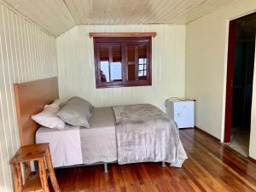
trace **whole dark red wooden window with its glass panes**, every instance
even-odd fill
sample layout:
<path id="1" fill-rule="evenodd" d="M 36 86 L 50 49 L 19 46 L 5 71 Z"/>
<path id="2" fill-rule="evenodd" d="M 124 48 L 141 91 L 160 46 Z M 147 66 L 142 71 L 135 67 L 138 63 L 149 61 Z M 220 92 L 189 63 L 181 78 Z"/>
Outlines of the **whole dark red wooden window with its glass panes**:
<path id="1" fill-rule="evenodd" d="M 151 38 L 94 38 L 96 88 L 151 85 Z"/>

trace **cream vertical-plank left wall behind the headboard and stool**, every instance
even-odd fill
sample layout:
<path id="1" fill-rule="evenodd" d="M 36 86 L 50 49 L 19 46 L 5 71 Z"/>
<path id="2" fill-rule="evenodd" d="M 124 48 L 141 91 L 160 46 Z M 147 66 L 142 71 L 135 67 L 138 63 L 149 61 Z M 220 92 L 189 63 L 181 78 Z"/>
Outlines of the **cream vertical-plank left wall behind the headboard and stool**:
<path id="1" fill-rule="evenodd" d="M 13 84 L 57 75 L 55 38 L 0 2 L 0 191 L 13 191 L 9 160 L 20 146 Z"/>

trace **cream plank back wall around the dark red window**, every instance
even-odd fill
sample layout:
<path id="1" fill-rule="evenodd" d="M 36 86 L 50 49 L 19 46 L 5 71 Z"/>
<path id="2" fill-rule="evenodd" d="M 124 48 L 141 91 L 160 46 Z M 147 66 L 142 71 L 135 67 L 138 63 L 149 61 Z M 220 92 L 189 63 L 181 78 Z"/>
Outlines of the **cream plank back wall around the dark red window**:
<path id="1" fill-rule="evenodd" d="M 93 38 L 89 32 L 157 32 L 152 46 L 152 86 L 96 89 Z M 76 26 L 57 38 L 60 96 L 83 96 L 96 107 L 152 103 L 164 109 L 184 96 L 185 26 Z"/>

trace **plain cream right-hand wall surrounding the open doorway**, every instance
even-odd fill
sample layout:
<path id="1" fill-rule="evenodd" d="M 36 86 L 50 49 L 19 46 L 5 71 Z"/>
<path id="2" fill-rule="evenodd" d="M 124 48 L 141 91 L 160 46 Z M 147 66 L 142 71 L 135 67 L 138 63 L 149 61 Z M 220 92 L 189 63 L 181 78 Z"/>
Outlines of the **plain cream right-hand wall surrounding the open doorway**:
<path id="1" fill-rule="evenodd" d="M 196 125 L 222 140 L 229 20 L 250 14 L 255 9 L 255 0 L 241 0 L 201 17 L 186 27 L 186 96 L 197 100 Z M 255 92 L 256 87 L 253 89 Z M 253 103 L 255 99 L 254 93 Z M 254 158 L 255 110 L 253 107 L 250 145 L 250 155 Z"/>

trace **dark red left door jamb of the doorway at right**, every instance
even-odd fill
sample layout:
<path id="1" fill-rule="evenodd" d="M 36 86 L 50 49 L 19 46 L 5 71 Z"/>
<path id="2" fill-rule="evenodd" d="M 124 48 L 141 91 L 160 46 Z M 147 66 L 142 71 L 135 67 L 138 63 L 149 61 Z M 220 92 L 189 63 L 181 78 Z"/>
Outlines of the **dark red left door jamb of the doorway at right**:
<path id="1" fill-rule="evenodd" d="M 231 136 L 232 94 L 233 94 L 232 80 L 233 80 L 233 76 L 234 76 L 235 51 L 236 51 L 236 20 L 230 20 L 228 61 L 227 61 L 227 79 L 226 79 L 224 143 L 230 143 L 230 136 Z"/>

